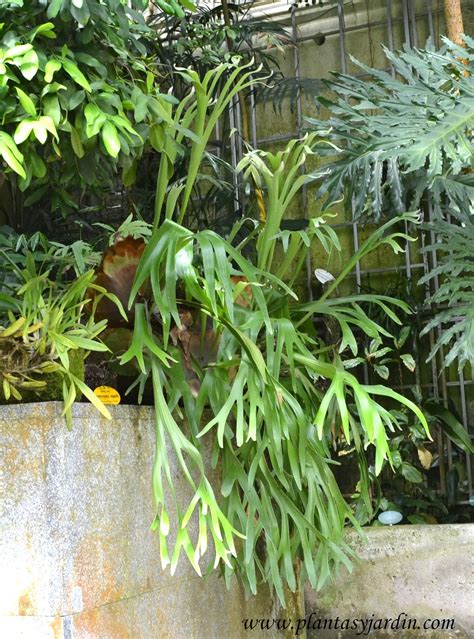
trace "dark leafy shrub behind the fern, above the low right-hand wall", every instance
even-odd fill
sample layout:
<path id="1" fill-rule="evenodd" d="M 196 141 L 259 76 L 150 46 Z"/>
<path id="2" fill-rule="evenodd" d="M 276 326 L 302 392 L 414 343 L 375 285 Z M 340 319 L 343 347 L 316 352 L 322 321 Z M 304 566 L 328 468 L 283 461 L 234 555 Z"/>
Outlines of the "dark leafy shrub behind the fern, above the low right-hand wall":
<path id="1" fill-rule="evenodd" d="M 367 284 L 363 290 L 373 292 Z M 426 347 L 420 336 L 423 327 L 423 299 L 416 282 L 407 280 L 400 273 L 398 278 L 391 278 L 386 294 L 399 300 L 410 300 L 413 314 L 406 315 L 400 310 L 400 325 L 380 307 L 369 305 L 369 317 L 383 326 L 390 336 L 383 335 L 382 341 L 362 338 L 359 342 L 360 354 L 344 360 L 344 366 L 353 370 L 361 379 L 364 377 L 364 366 L 369 380 L 390 380 L 395 388 L 404 389 L 404 393 L 423 410 L 430 430 L 433 432 L 433 429 L 437 429 L 450 440 L 452 463 L 449 466 L 443 463 L 443 451 L 439 450 L 436 441 L 428 440 L 414 413 L 406 407 L 397 409 L 401 430 L 390 435 L 392 465 L 386 462 L 380 475 L 376 476 L 369 456 L 363 473 L 369 477 L 372 485 L 373 509 L 400 510 L 405 521 L 417 524 L 463 520 L 465 515 L 462 512 L 456 513 L 448 506 L 452 507 L 456 502 L 469 497 L 467 474 L 461 459 L 463 453 L 474 452 L 472 442 L 462 425 L 455 401 L 448 398 L 445 406 L 437 397 L 435 389 L 421 383 L 423 370 L 418 370 L 421 368 L 418 363 L 423 360 Z M 417 298 L 418 302 L 415 301 Z M 364 459 L 344 440 L 336 439 L 334 445 L 343 465 L 338 476 L 347 480 L 347 477 L 353 477 L 350 467 L 355 463 L 360 466 Z M 360 500 L 357 489 L 354 498 L 357 516 L 363 519 L 366 514 L 367 523 L 370 523 L 371 513 L 366 512 L 365 503 Z"/>

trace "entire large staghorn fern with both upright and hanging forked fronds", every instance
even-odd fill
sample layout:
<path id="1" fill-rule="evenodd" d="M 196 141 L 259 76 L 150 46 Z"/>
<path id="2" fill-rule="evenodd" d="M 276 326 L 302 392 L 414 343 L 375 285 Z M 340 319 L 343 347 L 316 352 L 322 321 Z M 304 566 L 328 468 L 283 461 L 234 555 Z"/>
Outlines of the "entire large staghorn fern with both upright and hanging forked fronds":
<path id="1" fill-rule="evenodd" d="M 408 307 L 384 296 L 329 297 L 357 259 L 381 243 L 400 251 L 397 240 L 407 238 L 391 229 L 397 220 L 389 222 L 367 240 L 319 300 L 298 302 L 291 284 L 305 263 L 310 240 L 320 240 L 327 250 L 339 248 L 323 219 L 305 231 L 280 232 L 285 211 L 308 181 L 308 176 L 296 176 L 305 156 L 315 152 L 314 136 L 294 140 L 278 154 L 250 151 L 242 161 L 239 170 L 266 187 L 266 221 L 249 237 L 235 244 L 241 224 L 228 240 L 182 226 L 215 119 L 232 93 L 248 82 L 247 67 L 236 68 L 214 96 L 225 71 L 228 65 L 220 65 L 202 80 L 185 72 L 194 91 L 173 116 L 186 128 L 191 145 L 190 170 L 183 182 L 170 184 L 174 142 L 184 134 L 172 124 L 162 130 L 155 223 L 131 290 L 135 322 L 121 362 L 136 361 L 140 392 L 150 377 L 153 382 L 154 527 L 163 565 L 171 564 L 174 571 L 184 550 L 200 572 L 199 560 L 211 540 L 214 565 L 222 560 L 227 576 L 237 571 L 251 592 L 258 583 L 269 582 L 284 600 L 284 585 L 291 590 L 298 585 L 297 558 L 303 561 L 302 578 L 315 587 L 338 563 L 348 564 L 350 550 L 342 532 L 345 521 L 355 520 L 327 462 L 336 415 L 343 436 L 354 441 L 361 455 L 374 445 L 376 473 L 390 455 L 386 429 L 397 427 L 379 396 L 406 405 L 426 426 L 412 402 L 381 385 L 360 384 L 340 357 L 347 348 L 357 354 L 354 329 L 374 339 L 384 332 L 368 318 L 363 304 L 378 304 L 394 319 L 391 307 Z M 414 221 L 413 216 L 406 219 Z M 257 246 L 254 261 L 242 255 L 251 240 Z M 272 258 L 280 242 L 287 255 L 275 275 Z M 290 286 L 281 279 L 288 274 Z M 147 290 L 148 295 L 143 293 Z M 339 343 L 327 346 L 318 338 L 316 315 L 339 324 Z M 211 433 L 224 500 L 211 488 L 202 451 L 202 437 Z M 173 491 L 171 454 L 191 486 L 189 503 L 181 503 Z M 193 515 L 199 521 L 194 543 L 188 530 Z M 245 541 L 239 541 L 242 535 Z"/>

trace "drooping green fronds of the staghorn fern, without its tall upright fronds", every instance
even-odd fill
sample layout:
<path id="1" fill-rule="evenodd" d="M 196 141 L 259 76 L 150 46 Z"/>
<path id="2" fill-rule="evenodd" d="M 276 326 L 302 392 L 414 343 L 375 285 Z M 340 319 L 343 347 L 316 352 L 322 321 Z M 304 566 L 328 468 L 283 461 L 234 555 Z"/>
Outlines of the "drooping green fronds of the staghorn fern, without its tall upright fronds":
<path id="1" fill-rule="evenodd" d="M 413 215 L 405 219 L 414 222 Z M 378 229 L 354 260 L 381 242 L 401 250 L 397 239 L 406 236 L 393 232 L 397 223 L 391 220 Z M 153 383 L 153 528 L 163 567 L 174 572 L 184 551 L 199 574 L 222 562 L 226 579 L 237 573 L 249 593 L 267 582 L 284 602 L 285 587 L 294 591 L 300 585 L 294 562 L 301 559 L 300 578 L 321 587 L 338 565 L 350 566 L 353 553 L 343 528 L 346 522 L 358 527 L 329 462 L 335 424 L 361 455 L 374 447 L 376 473 L 390 459 L 387 431 L 399 427 L 380 396 L 404 404 L 427 429 L 412 402 L 390 388 L 360 384 L 339 357 L 346 348 L 357 352 L 354 331 L 374 338 L 384 332 L 363 304 L 376 303 L 392 317 L 397 308 L 408 307 L 378 295 L 325 295 L 301 304 L 287 284 L 222 237 L 209 230 L 193 232 L 172 220 L 163 222 L 147 243 L 131 301 L 147 281 L 151 295 L 135 304 L 134 335 L 121 363 L 136 360 L 141 370 L 136 383 L 142 388 L 150 378 Z M 190 310 L 201 317 L 202 327 L 212 326 L 217 344 L 204 366 L 197 358 L 190 360 L 199 380 L 196 392 L 172 339 L 177 330 L 187 330 L 184 318 Z M 325 348 L 314 333 L 313 315 L 330 315 L 340 324 L 339 348 Z M 220 495 L 208 480 L 206 434 L 212 437 L 213 462 L 220 463 Z M 187 503 L 173 490 L 170 456 L 191 487 Z M 199 523 L 195 536 L 188 530 L 192 517 Z M 206 557 L 211 560 L 207 567 Z"/>

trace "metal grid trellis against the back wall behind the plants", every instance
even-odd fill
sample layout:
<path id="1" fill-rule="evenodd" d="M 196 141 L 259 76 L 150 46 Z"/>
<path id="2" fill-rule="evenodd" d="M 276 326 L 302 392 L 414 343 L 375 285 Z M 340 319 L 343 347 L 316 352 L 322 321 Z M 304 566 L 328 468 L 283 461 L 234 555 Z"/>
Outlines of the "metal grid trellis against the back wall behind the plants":
<path id="1" fill-rule="evenodd" d="M 260 4 L 260 3 L 259 3 Z M 385 0 L 385 9 L 386 16 L 385 20 L 377 20 L 374 22 L 370 22 L 370 11 L 368 0 L 366 0 L 367 6 L 367 21 L 363 21 L 360 24 L 355 25 L 346 25 L 346 9 L 344 4 L 339 4 L 335 9 L 337 11 L 337 28 L 336 29 L 328 29 L 326 31 L 322 31 L 322 34 L 327 38 L 328 36 L 338 36 L 339 39 L 339 59 L 340 59 L 340 68 L 332 69 L 333 71 L 347 72 L 348 66 L 348 50 L 346 45 L 346 34 L 349 32 L 360 32 L 361 34 L 364 31 L 367 31 L 374 27 L 384 27 L 386 30 L 385 43 L 390 50 L 393 50 L 394 45 L 394 26 L 395 25 L 403 25 L 403 40 L 409 46 L 417 47 L 419 46 L 419 36 L 418 36 L 418 27 L 421 22 L 424 22 L 424 26 L 427 29 L 430 37 L 436 42 L 439 38 L 439 24 L 442 16 L 442 6 L 440 5 L 438 0 L 435 0 L 435 7 L 433 7 L 432 0 L 425 0 L 422 4 L 422 10 L 416 10 L 416 1 L 415 0 Z M 293 48 L 293 70 L 294 76 L 296 78 L 301 77 L 300 68 L 301 68 L 301 44 L 310 40 L 312 36 L 301 36 L 299 33 L 299 24 L 300 22 L 304 23 L 304 9 L 296 9 L 291 12 L 291 20 L 289 24 L 289 28 L 291 30 L 291 35 L 293 42 L 296 44 Z M 357 57 L 357 52 L 354 52 Z M 394 73 L 393 69 L 391 72 Z M 232 105 L 230 109 L 230 123 L 231 126 L 237 126 L 239 130 L 241 129 L 241 114 L 239 110 L 238 102 L 236 101 L 234 105 Z M 250 130 L 251 130 L 251 143 L 254 147 L 262 144 L 271 144 L 271 143 L 280 143 L 287 141 L 289 139 L 294 138 L 295 136 L 299 136 L 303 131 L 303 101 L 302 96 L 299 93 L 296 99 L 296 131 L 288 131 L 285 134 L 279 134 L 272 137 L 259 138 L 258 137 L 258 117 L 257 117 L 257 109 L 255 104 L 254 96 L 251 96 L 250 100 Z M 217 132 L 218 133 L 218 132 Z M 235 166 L 235 163 L 241 157 L 242 154 L 242 143 L 238 137 L 233 136 L 230 145 L 230 152 L 232 163 Z M 304 167 L 303 167 L 304 170 Z M 239 188 L 238 182 L 235 183 L 235 202 L 236 209 L 243 209 L 244 198 L 241 197 L 241 189 Z M 302 197 L 302 209 L 304 217 L 308 216 L 308 198 L 307 193 L 304 191 Z M 429 212 L 429 219 L 431 219 L 431 211 Z M 346 223 L 342 223 L 337 225 L 339 227 L 346 227 L 351 229 L 352 239 L 354 251 L 357 251 L 360 245 L 359 238 L 359 226 L 357 223 L 353 221 L 348 221 Z M 407 229 L 409 230 L 409 229 Z M 425 235 L 421 235 L 420 244 L 421 247 L 426 244 L 433 244 L 433 237 L 426 237 Z M 412 261 L 412 257 L 410 255 L 410 251 L 407 249 L 405 252 L 405 264 L 400 267 L 386 267 L 386 268 L 369 268 L 363 269 L 361 264 L 356 265 L 355 269 L 355 286 L 357 290 L 360 290 L 363 284 L 363 277 L 370 275 L 372 273 L 379 274 L 388 274 L 390 272 L 400 272 L 400 270 L 404 269 L 407 279 L 415 279 L 418 280 L 421 276 L 422 272 L 426 273 L 432 268 L 436 266 L 436 253 L 434 251 L 429 253 L 420 253 L 418 259 L 415 262 Z M 310 286 L 310 279 L 312 276 L 312 264 L 311 264 L 311 256 L 308 257 L 307 263 L 307 280 L 308 280 L 308 295 L 311 297 L 312 288 Z M 434 287 L 436 288 L 438 285 L 437 281 L 434 281 Z M 433 292 L 433 291 L 432 291 Z M 433 346 L 436 338 L 439 337 L 435 335 L 434 331 L 432 331 L 429 335 L 430 345 Z M 420 365 L 423 365 L 422 362 L 419 362 Z M 418 365 L 416 368 L 416 384 L 421 387 L 429 387 L 432 389 L 433 397 L 435 399 L 439 399 L 443 402 L 443 404 L 447 405 L 448 397 L 453 398 L 453 393 L 456 395 L 456 399 L 458 400 L 458 404 L 460 405 L 460 411 L 462 414 L 462 422 L 466 431 L 472 435 L 470 432 L 470 424 L 472 420 L 471 411 L 469 408 L 469 401 L 467 396 L 467 390 L 469 387 L 472 387 L 474 381 L 471 379 L 465 379 L 462 373 L 459 374 L 457 380 L 448 381 L 446 379 L 446 371 L 444 368 L 443 362 L 443 353 L 439 354 L 439 357 L 435 360 L 431 361 L 431 380 L 429 383 L 421 383 L 420 380 L 420 366 Z M 368 380 L 368 371 L 365 369 L 364 376 L 366 381 Z M 395 388 L 395 387 L 394 387 Z M 399 386 L 400 389 L 407 389 L 409 386 Z M 449 471 L 453 466 L 453 450 L 451 448 L 451 443 L 449 439 L 447 439 L 442 433 L 441 429 L 438 430 L 436 434 L 437 437 L 437 445 L 438 445 L 438 453 L 439 453 L 439 475 L 440 475 L 440 488 L 443 493 L 446 492 L 446 475 L 447 471 Z M 464 455 L 465 459 L 465 468 L 466 468 L 466 477 L 468 483 L 468 492 L 470 503 L 472 504 L 474 499 L 474 491 L 473 491 L 473 480 L 472 480 L 472 466 L 471 466 L 471 458 L 468 454 Z M 446 468 L 447 466 L 447 468 Z M 459 504 L 467 504 L 469 501 L 460 501 Z"/>

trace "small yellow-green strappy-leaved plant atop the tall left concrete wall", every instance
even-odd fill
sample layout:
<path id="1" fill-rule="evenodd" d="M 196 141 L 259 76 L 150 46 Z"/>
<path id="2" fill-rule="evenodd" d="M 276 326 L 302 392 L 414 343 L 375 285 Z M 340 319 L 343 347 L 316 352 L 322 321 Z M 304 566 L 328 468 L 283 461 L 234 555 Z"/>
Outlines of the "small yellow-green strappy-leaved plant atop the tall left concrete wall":
<path id="1" fill-rule="evenodd" d="M 33 242 L 38 248 L 36 244 Z M 23 255 L 10 254 L 8 247 L 0 250 L 0 393 L 4 400 L 18 401 L 25 391 L 30 396 L 44 394 L 48 385 L 59 383 L 69 426 L 71 407 L 81 394 L 110 419 L 106 407 L 83 381 L 87 354 L 107 350 L 98 339 L 107 321 L 96 321 L 86 306 L 91 291 L 97 294 L 94 305 L 104 295 L 119 302 L 94 283 L 93 269 L 73 282 L 64 277 L 64 270 L 48 269 L 62 264 L 67 270 L 68 256 L 60 255 L 58 247 L 46 251 L 40 247 L 36 252 L 28 248 Z M 77 264 L 73 252 L 70 257 Z"/>

